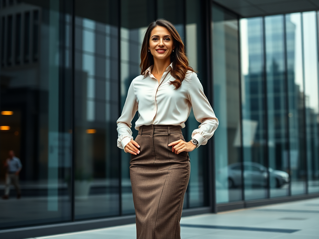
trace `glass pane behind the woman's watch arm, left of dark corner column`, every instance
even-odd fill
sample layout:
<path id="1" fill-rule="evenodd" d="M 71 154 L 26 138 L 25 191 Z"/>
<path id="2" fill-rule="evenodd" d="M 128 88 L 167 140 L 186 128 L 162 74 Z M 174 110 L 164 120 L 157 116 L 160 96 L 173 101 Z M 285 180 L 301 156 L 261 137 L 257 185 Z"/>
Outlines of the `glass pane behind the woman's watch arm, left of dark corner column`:
<path id="1" fill-rule="evenodd" d="M 202 41 L 202 33 L 204 30 L 202 29 L 203 24 L 202 18 L 200 18 L 201 14 L 201 3 L 199 1 L 186 1 L 186 54 L 189 60 L 189 66 L 198 71 L 197 76 L 200 78 L 201 83 L 204 85 L 205 91 L 207 76 L 205 74 L 206 71 L 204 70 L 203 62 L 205 61 L 204 53 L 206 53 L 206 50 L 204 49 L 204 46 L 202 46 L 202 44 L 199 44 Z M 180 17 L 182 18 L 182 16 Z M 182 32 L 179 31 L 179 33 L 182 37 Z M 205 94 L 208 97 L 206 91 Z M 198 126 L 199 122 L 197 122 L 194 117 L 193 111 L 191 111 L 189 118 L 186 121 L 186 127 L 183 129 L 183 134 L 186 141 L 191 139 L 193 130 L 198 128 Z M 189 183 L 184 199 L 184 207 L 197 207 L 207 205 L 207 198 L 209 193 L 207 189 L 207 182 L 205 182 L 205 178 L 207 178 L 205 175 L 207 149 L 208 145 L 202 145 L 196 150 L 189 152 L 191 170 Z"/>

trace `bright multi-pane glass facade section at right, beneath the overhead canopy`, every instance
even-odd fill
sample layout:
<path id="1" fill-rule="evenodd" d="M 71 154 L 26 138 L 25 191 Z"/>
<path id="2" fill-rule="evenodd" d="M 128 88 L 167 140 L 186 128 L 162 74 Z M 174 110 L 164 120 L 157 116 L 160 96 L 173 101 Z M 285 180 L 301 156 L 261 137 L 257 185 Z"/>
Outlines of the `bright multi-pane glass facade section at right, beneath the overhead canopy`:
<path id="1" fill-rule="evenodd" d="M 240 20 L 245 200 L 318 192 L 317 15 Z"/>

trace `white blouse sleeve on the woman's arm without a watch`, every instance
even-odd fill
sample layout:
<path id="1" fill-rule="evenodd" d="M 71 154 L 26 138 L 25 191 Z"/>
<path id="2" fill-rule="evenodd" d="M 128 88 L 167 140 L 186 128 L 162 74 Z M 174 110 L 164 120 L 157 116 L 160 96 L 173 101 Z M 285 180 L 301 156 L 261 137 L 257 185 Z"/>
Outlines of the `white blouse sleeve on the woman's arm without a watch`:
<path id="1" fill-rule="evenodd" d="M 121 117 L 116 121 L 117 133 L 118 133 L 117 147 L 124 149 L 125 146 L 131 140 L 133 140 L 131 122 L 137 110 L 138 110 L 138 104 L 135 98 L 134 85 L 132 81 L 129 87 L 129 91 L 127 93 L 127 97 L 125 100 Z"/>

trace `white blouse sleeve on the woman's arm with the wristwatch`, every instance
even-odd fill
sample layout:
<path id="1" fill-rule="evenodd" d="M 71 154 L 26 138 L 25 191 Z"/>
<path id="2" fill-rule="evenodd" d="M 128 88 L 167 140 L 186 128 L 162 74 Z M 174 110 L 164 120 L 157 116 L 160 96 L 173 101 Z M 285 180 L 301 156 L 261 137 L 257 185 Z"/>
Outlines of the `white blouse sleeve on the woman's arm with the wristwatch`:
<path id="1" fill-rule="evenodd" d="M 192 139 L 198 141 L 198 146 L 201 144 L 204 145 L 217 129 L 218 119 L 204 94 L 202 84 L 194 72 L 190 76 L 188 95 L 195 119 L 201 123 L 198 129 L 192 132 Z"/>

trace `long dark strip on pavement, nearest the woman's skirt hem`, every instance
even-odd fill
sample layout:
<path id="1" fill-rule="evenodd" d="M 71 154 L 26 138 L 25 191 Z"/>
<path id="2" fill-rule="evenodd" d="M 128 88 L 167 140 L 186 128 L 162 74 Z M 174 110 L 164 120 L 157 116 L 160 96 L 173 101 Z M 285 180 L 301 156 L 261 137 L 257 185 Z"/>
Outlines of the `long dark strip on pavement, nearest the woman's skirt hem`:
<path id="1" fill-rule="evenodd" d="M 300 231 L 300 229 L 232 227 L 232 226 L 214 226 L 214 225 L 197 225 L 197 224 L 181 224 L 181 227 L 222 229 L 222 230 L 241 230 L 241 231 L 258 231 L 258 232 L 279 232 L 279 233 L 294 233 L 294 232 Z"/>

